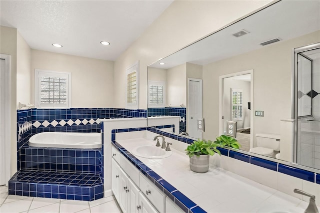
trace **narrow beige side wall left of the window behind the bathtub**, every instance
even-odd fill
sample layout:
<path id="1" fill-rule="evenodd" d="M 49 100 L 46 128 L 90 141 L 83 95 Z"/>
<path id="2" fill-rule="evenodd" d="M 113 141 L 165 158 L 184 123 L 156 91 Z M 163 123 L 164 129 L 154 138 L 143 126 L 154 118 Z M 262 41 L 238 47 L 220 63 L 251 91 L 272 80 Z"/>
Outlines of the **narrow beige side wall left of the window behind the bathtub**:
<path id="1" fill-rule="evenodd" d="M 31 103 L 31 49 L 17 32 L 16 37 L 16 103 Z"/>

